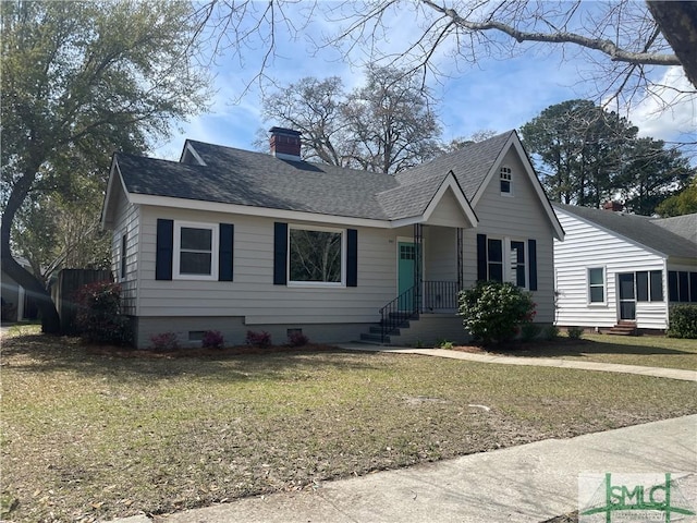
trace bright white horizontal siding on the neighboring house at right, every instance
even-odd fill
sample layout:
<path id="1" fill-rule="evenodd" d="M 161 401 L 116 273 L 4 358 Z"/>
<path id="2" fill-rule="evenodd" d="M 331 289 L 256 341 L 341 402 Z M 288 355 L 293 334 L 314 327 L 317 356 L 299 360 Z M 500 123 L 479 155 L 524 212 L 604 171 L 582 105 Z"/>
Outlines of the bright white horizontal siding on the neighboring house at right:
<path id="1" fill-rule="evenodd" d="M 612 327 L 617 323 L 617 273 L 639 270 L 663 271 L 662 302 L 637 302 L 637 327 L 665 329 L 665 260 L 660 255 L 617 238 L 570 212 L 557 210 L 566 232 L 563 242 L 554 242 L 557 289 L 559 291 L 557 324 L 560 326 Z M 606 269 L 606 303 L 590 304 L 588 269 Z"/>

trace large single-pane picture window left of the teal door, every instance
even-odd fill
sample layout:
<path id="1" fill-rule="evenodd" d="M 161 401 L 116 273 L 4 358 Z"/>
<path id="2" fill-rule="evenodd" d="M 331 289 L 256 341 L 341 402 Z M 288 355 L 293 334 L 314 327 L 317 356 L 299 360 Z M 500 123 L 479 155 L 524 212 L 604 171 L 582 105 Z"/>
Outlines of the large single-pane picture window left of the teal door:
<path id="1" fill-rule="evenodd" d="M 343 283 L 343 231 L 289 229 L 289 281 L 297 283 Z"/>

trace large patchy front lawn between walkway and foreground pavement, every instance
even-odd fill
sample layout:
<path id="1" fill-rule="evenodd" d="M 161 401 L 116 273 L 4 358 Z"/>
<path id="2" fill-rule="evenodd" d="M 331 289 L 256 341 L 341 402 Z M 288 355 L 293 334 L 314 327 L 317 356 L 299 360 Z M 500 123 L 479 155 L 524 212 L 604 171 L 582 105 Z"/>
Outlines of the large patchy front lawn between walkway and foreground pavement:
<path id="1" fill-rule="evenodd" d="M 167 513 L 692 414 L 696 392 L 384 353 L 127 358 L 16 336 L 3 342 L 0 500 L 15 522 Z"/>

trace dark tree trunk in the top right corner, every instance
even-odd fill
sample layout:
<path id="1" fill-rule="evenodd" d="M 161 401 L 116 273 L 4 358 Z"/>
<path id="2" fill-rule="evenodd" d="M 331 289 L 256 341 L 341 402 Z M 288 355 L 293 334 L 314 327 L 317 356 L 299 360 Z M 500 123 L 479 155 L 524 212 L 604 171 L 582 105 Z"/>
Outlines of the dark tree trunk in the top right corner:
<path id="1" fill-rule="evenodd" d="M 647 1 L 653 20 L 697 88 L 697 2 Z"/>

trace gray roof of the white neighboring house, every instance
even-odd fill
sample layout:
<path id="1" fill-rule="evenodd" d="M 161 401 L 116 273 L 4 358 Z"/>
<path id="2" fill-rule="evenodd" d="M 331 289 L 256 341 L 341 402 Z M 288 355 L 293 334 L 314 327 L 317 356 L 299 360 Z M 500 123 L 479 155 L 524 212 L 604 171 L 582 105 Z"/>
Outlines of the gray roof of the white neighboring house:
<path id="1" fill-rule="evenodd" d="M 680 223 L 677 221 L 668 222 L 665 219 L 627 212 L 612 212 L 564 204 L 553 204 L 553 206 L 664 255 L 685 258 L 697 257 L 697 243 L 694 240 L 690 241 L 688 235 L 675 233 L 676 230 L 682 230 L 683 220 Z M 689 216 L 697 217 L 697 215 Z M 689 226 L 689 220 L 692 223 L 696 222 L 695 218 L 684 218 L 686 227 Z M 668 227 L 665 227 L 667 222 Z"/>

